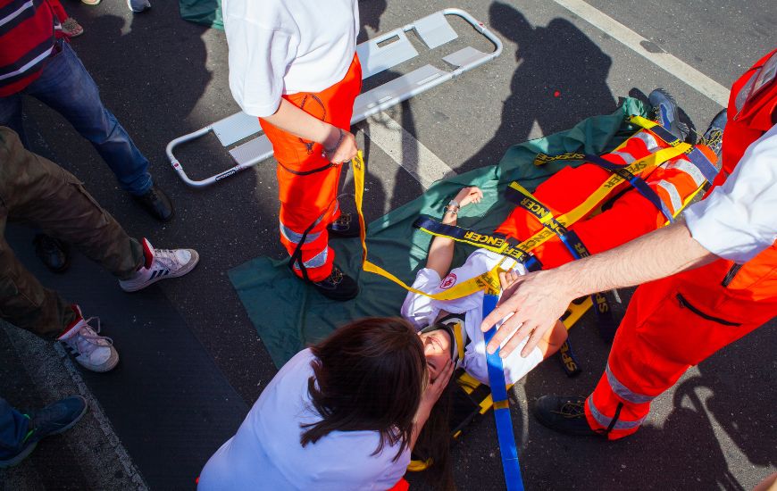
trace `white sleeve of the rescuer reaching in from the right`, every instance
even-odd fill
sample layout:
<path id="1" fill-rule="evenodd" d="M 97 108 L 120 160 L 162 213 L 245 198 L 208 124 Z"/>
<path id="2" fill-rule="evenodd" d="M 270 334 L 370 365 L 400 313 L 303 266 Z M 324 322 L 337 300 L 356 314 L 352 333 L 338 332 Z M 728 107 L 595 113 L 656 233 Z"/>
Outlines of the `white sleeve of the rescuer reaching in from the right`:
<path id="1" fill-rule="evenodd" d="M 771 246 L 777 239 L 777 125 L 748 146 L 723 186 L 684 216 L 691 236 L 724 259 L 741 264 Z"/>

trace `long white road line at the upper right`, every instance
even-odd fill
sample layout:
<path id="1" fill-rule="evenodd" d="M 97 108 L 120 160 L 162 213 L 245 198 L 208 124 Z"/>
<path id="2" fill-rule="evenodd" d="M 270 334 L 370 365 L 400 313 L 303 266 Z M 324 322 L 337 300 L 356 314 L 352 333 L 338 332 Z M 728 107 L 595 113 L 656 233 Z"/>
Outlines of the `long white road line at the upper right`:
<path id="1" fill-rule="evenodd" d="M 563 6 L 584 21 L 589 22 L 597 29 L 601 29 L 608 36 L 614 37 L 623 45 L 628 46 L 637 54 L 642 55 L 648 61 L 673 74 L 678 79 L 688 84 L 701 94 L 709 97 L 715 103 L 726 107 L 729 104 L 729 89 L 723 87 L 713 79 L 707 77 L 701 71 L 696 70 L 686 62 L 669 53 L 652 53 L 643 46 L 650 43 L 645 37 L 639 36 L 633 30 L 622 23 L 615 21 L 604 12 L 598 11 L 582 0 L 555 0 L 556 4 Z M 652 43 L 651 43 L 652 44 Z"/>

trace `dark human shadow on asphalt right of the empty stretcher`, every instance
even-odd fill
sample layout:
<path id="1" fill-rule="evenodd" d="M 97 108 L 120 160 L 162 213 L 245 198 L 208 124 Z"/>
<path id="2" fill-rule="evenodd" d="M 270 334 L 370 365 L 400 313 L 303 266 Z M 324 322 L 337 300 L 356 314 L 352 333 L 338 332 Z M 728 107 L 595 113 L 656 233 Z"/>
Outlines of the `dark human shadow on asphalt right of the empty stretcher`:
<path id="1" fill-rule="evenodd" d="M 489 26 L 517 45 L 518 68 L 497 132 L 466 162 L 465 169 L 493 163 L 509 146 L 539 137 L 531 135 L 535 124 L 542 135 L 549 135 L 615 110 L 616 101 L 607 87 L 612 60 L 572 22 L 556 18 L 545 27 L 535 27 L 514 6 L 494 2 Z"/>

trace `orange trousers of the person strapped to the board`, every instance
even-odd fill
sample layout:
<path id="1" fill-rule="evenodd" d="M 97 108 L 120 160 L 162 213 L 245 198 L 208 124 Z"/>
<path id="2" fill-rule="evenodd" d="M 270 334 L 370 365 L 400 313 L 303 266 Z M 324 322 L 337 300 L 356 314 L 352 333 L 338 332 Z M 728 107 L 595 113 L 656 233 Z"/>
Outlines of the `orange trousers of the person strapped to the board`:
<path id="1" fill-rule="evenodd" d="M 605 154 L 603 158 L 608 162 L 628 165 L 667 146 L 649 130 L 642 129 L 626 140 L 625 145 L 618 151 Z M 708 159 L 715 161 L 714 154 L 706 146 L 698 148 Z M 574 168 L 564 167 L 540 184 L 533 195 L 557 217 L 584 202 L 597 187 L 611 177 L 610 171 L 592 163 L 583 163 Z M 704 177 L 684 154 L 652 171 L 646 171 L 641 177 L 661 198 L 669 212 L 680 209 L 682 202 L 704 182 Z M 623 192 L 622 196 L 604 212 L 568 227 L 580 237 L 590 254 L 629 242 L 661 227 L 666 221 L 656 206 L 631 189 L 629 184 L 622 183 L 611 196 L 616 196 L 619 192 Z M 516 206 L 496 231 L 523 240 L 534 235 L 539 229 L 542 229 L 542 224 L 537 217 Z M 549 239 L 532 252 L 542 263 L 543 269 L 556 268 L 573 259 L 558 237 Z"/>

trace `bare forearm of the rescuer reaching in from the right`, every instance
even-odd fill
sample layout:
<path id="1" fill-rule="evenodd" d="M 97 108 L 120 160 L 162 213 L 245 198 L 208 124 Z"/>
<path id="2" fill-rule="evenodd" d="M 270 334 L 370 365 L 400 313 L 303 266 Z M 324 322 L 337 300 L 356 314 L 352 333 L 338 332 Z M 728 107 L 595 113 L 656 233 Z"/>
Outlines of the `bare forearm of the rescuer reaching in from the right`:
<path id="1" fill-rule="evenodd" d="M 548 270 L 547 276 L 577 298 L 666 278 L 716 258 L 691 237 L 684 223 L 675 223 L 604 253 Z"/>

